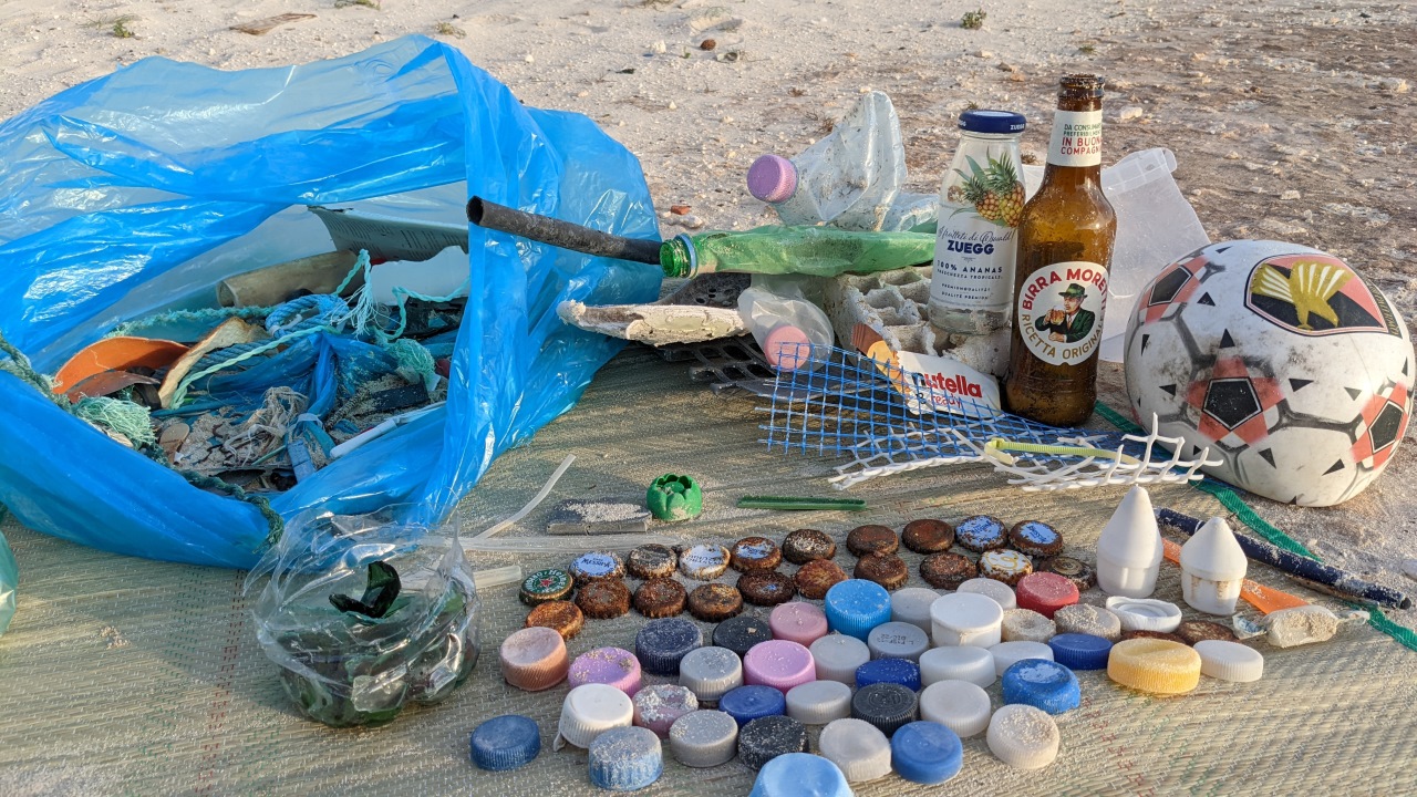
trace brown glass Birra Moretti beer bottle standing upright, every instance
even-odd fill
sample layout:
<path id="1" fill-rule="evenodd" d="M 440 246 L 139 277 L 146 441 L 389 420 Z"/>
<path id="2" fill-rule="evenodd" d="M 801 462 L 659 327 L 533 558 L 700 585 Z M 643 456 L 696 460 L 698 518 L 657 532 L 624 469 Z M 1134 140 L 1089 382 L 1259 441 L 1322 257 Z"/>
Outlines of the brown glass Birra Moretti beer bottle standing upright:
<path id="1" fill-rule="evenodd" d="M 1003 377 L 1010 413 L 1064 427 L 1093 414 L 1115 238 L 1117 214 L 1102 196 L 1102 78 L 1064 75 L 1043 184 L 1019 223 Z"/>

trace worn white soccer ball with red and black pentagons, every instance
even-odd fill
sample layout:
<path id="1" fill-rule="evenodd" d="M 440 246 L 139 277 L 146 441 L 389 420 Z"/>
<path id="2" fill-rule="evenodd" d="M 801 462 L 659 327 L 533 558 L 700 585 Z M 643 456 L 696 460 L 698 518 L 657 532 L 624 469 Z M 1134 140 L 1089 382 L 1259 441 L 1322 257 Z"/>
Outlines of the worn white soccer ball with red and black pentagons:
<path id="1" fill-rule="evenodd" d="M 1407 430 L 1407 325 L 1342 260 L 1280 241 L 1210 244 L 1142 289 L 1127 393 L 1144 427 L 1210 448 L 1206 472 L 1332 506 L 1383 472 Z"/>

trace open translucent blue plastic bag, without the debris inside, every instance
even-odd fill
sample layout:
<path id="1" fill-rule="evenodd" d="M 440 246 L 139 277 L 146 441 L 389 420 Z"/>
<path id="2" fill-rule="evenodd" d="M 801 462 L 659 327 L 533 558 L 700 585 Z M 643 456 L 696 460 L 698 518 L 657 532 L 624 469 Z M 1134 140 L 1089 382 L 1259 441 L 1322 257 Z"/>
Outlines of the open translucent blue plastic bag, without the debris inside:
<path id="1" fill-rule="evenodd" d="M 210 306 L 224 277 L 330 251 L 306 206 L 466 224 L 480 194 L 657 237 L 628 150 L 421 37 L 276 69 L 147 58 L 0 123 L 0 332 L 41 373 L 119 322 Z M 410 522 L 442 520 L 619 349 L 555 306 L 657 295 L 655 267 L 469 235 L 446 407 L 273 498 L 283 518 L 412 503 Z M 173 562 L 259 557 L 269 525 L 254 505 L 190 486 L 4 370 L 0 394 L 0 502 L 27 526 Z"/>

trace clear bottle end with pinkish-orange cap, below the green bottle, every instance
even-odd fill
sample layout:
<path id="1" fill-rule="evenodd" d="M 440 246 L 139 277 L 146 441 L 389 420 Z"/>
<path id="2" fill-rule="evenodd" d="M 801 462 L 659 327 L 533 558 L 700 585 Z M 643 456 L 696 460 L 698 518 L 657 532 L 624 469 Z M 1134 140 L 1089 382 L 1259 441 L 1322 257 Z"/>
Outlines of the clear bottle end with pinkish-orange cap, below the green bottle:
<path id="1" fill-rule="evenodd" d="M 768 364 L 779 370 L 811 367 L 813 355 L 832 346 L 832 322 L 801 279 L 754 277 L 738 295 L 738 313 Z"/>

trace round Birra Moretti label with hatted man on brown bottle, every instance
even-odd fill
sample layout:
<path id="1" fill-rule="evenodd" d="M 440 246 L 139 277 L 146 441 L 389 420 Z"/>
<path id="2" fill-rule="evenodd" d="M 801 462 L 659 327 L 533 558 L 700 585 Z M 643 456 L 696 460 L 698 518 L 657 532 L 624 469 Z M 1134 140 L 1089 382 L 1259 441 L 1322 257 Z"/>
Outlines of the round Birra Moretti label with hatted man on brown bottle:
<path id="1" fill-rule="evenodd" d="M 1068 261 L 1040 268 L 1019 286 L 1015 323 L 1034 357 L 1076 366 L 1097 352 L 1107 306 L 1107 269 Z"/>

